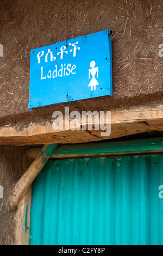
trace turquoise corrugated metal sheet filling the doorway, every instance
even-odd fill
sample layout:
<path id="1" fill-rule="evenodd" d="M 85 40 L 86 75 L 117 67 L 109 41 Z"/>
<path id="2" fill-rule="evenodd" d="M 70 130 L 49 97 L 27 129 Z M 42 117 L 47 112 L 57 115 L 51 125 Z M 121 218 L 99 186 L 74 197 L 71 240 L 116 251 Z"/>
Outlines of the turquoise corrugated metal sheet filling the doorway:
<path id="1" fill-rule="evenodd" d="M 163 245 L 163 155 L 48 161 L 33 184 L 31 245 Z"/>

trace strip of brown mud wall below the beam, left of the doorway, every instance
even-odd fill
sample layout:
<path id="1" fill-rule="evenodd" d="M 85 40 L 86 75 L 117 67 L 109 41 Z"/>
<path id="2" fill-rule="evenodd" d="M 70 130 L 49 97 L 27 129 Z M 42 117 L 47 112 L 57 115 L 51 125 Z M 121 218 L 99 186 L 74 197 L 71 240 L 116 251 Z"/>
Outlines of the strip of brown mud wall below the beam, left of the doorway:
<path id="1" fill-rule="evenodd" d="M 9 210 L 9 195 L 12 188 L 28 167 L 25 148 L 0 147 L 0 185 L 3 198 L 0 198 L 0 245 L 14 244 L 16 211 Z"/>

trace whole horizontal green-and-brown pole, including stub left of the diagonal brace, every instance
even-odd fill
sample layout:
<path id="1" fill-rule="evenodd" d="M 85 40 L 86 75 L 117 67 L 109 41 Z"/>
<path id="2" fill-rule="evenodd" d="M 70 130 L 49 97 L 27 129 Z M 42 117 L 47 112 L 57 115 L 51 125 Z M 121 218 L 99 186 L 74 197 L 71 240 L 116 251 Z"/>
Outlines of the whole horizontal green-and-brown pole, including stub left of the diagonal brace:
<path id="1" fill-rule="evenodd" d="M 38 148 L 29 148 L 26 154 L 35 159 L 40 151 Z M 127 154 L 156 154 L 163 152 L 163 138 L 133 139 L 120 142 L 98 142 L 85 144 L 59 145 L 51 159 L 68 159 L 90 156 L 111 156 Z"/>

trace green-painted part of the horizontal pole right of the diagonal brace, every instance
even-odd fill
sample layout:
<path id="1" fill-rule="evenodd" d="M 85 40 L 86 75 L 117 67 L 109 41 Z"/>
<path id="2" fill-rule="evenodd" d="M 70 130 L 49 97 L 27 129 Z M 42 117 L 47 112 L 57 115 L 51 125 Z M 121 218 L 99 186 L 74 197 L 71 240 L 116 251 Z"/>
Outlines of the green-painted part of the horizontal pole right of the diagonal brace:
<path id="1" fill-rule="evenodd" d="M 118 154 L 135 153 L 147 151 L 163 151 L 163 138 L 133 139 L 120 142 L 98 142 L 83 144 L 59 145 L 54 155 L 100 155 L 100 154 Z"/>

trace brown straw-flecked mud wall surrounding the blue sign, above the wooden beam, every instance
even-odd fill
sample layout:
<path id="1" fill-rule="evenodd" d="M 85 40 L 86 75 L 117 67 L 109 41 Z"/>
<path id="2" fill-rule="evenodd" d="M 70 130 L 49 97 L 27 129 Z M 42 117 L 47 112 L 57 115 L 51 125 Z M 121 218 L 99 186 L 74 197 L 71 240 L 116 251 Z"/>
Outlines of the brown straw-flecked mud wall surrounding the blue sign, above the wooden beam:
<path id="1" fill-rule="evenodd" d="M 1 0 L 0 123 L 43 121 L 69 106 L 110 110 L 162 101 L 163 2 L 160 0 Z M 30 50 L 104 29 L 112 30 L 113 97 L 29 112 Z M 96 102 L 96 103 L 95 103 Z"/>

